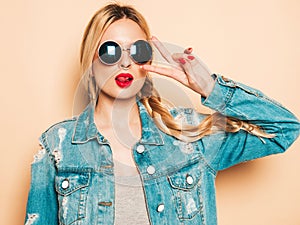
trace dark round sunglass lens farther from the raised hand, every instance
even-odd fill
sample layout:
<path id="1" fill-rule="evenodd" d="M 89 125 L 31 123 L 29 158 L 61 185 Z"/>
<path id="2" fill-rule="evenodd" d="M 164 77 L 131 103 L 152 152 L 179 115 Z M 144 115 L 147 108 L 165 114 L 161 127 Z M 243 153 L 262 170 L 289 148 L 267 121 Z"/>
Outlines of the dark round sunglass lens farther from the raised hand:
<path id="1" fill-rule="evenodd" d="M 122 50 L 116 42 L 107 41 L 100 46 L 98 54 L 103 63 L 114 64 L 121 58 Z"/>

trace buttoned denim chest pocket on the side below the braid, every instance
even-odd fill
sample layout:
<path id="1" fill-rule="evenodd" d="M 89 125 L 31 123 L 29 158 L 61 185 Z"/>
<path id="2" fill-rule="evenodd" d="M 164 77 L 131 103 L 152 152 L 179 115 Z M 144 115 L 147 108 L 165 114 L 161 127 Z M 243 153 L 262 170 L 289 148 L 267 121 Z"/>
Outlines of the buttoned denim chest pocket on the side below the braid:
<path id="1" fill-rule="evenodd" d="M 196 216 L 199 218 L 200 216 L 199 222 L 201 220 L 203 222 L 203 203 L 200 193 L 201 169 L 199 164 L 195 163 L 180 169 L 168 176 L 168 181 L 173 192 L 178 218 L 182 221 L 194 219 Z"/>

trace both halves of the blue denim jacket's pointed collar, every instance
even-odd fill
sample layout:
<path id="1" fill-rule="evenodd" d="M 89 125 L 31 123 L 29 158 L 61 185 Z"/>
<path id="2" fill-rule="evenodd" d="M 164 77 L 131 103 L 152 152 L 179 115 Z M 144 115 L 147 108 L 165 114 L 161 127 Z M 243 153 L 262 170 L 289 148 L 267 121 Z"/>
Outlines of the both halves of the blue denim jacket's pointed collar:
<path id="1" fill-rule="evenodd" d="M 148 114 L 145 106 L 137 101 L 141 123 L 142 137 L 139 143 L 150 145 L 163 145 L 164 141 L 161 131 L 156 127 L 153 119 Z M 107 144 L 104 136 L 98 132 L 94 121 L 95 108 L 89 104 L 85 110 L 78 116 L 72 136 L 72 143 L 83 144 L 92 139 L 97 139 L 99 144 Z"/>

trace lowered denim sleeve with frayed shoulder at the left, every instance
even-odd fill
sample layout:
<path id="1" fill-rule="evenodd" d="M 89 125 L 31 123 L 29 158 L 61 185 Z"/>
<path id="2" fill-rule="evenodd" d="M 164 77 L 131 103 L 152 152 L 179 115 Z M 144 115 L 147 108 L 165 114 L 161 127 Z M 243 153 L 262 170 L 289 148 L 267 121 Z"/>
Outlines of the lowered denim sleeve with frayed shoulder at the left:
<path id="1" fill-rule="evenodd" d="M 57 197 L 54 188 L 56 169 L 48 146 L 41 140 L 41 150 L 31 165 L 31 183 L 25 225 L 57 225 Z"/>

